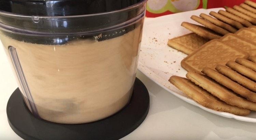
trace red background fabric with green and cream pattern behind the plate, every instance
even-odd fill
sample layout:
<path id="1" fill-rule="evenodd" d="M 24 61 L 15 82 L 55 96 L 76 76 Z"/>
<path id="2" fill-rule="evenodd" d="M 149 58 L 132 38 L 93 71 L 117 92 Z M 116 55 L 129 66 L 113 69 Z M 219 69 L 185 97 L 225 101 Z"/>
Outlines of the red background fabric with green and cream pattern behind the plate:
<path id="1" fill-rule="evenodd" d="M 256 0 L 251 0 L 256 2 Z M 148 0 L 146 17 L 158 17 L 200 8 L 233 7 L 244 0 Z"/>

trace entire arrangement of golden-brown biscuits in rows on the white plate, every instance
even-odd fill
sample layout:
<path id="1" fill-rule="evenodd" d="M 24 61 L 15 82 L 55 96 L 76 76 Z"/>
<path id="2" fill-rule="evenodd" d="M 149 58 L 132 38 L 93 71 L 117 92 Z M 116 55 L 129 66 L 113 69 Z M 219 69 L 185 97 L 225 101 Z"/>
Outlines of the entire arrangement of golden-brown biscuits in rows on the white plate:
<path id="1" fill-rule="evenodd" d="M 186 78 L 169 81 L 204 107 L 248 115 L 256 111 L 256 3 L 210 15 L 191 16 L 203 26 L 183 22 L 193 33 L 169 40 L 188 55 L 181 61 Z"/>

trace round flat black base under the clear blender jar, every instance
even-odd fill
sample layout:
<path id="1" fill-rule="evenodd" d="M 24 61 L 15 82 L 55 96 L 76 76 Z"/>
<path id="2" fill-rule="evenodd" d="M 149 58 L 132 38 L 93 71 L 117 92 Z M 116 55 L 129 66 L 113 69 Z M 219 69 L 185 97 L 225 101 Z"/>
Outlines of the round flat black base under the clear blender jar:
<path id="1" fill-rule="evenodd" d="M 136 78 L 130 103 L 116 114 L 92 123 L 57 124 L 35 118 L 27 109 L 19 89 L 7 104 L 7 116 L 14 132 L 25 140 L 120 139 L 146 118 L 150 105 L 145 85 Z"/>

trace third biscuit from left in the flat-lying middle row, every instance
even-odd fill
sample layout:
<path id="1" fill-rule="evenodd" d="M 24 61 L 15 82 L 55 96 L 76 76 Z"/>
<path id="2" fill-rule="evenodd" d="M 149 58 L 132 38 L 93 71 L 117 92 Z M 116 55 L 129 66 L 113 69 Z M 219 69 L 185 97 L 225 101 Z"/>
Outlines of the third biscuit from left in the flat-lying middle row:
<path id="1" fill-rule="evenodd" d="M 248 28 L 242 28 L 238 30 L 235 34 L 256 43 L 256 32 L 250 31 L 250 29 Z"/>

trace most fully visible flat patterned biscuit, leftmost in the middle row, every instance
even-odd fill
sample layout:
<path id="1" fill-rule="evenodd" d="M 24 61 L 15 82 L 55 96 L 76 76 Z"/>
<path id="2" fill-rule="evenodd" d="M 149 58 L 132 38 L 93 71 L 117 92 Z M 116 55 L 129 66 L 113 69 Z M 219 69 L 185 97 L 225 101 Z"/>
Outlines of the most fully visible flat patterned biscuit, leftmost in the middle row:
<path id="1" fill-rule="evenodd" d="M 187 71 L 200 73 L 204 67 L 214 69 L 217 64 L 225 65 L 229 60 L 248 58 L 248 53 L 230 47 L 219 40 L 212 40 L 191 53 L 181 61 L 181 66 Z"/>

